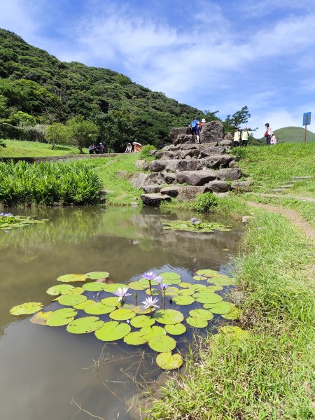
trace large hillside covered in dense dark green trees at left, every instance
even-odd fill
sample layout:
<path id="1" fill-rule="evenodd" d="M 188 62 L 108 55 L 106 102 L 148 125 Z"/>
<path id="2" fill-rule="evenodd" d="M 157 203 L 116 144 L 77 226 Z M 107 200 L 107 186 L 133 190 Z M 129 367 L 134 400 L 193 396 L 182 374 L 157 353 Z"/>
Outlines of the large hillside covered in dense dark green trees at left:
<path id="1" fill-rule="evenodd" d="M 42 125 L 65 123 L 80 114 L 100 127 L 99 140 L 123 133 L 112 145 L 116 150 L 126 139 L 162 146 L 172 127 L 186 126 L 195 114 L 203 115 L 115 71 L 61 62 L 0 29 L 0 137 L 20 137 L 13 118 L 18 111 Z M 109 126 L 117 130 L 110 134 Z"/>

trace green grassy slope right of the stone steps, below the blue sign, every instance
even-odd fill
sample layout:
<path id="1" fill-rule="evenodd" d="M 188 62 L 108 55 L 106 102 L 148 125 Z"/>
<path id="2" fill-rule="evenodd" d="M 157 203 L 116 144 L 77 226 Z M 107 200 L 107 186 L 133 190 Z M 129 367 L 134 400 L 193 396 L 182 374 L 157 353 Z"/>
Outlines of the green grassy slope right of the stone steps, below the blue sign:
<path id="1" fill-rule="evenodd" d="M 314 176 L 315 173 L 314 143 L 248 146 L 236 148 L 233 153 L 239 156 L 238 165 L 253 182 L 253 190 L 260 193 L 283 185 L 292 176 Z M 309 183 L 312 183 L 314 190 L 314 180 Z M 309 183 L 299 183 L 292 193 L 307 194 Z"/>

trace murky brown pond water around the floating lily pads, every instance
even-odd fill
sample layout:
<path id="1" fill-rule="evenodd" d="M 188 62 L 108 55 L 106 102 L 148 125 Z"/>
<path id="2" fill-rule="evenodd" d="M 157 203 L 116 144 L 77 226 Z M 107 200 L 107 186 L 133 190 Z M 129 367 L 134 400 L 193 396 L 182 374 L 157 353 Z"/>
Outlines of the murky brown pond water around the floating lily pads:
<path id="1" fill-rule="evenodd" d="M 90 419 L 76 404 L 106 420 L 134 418 L 128 412 L 132 395 L 162 372 L 154 351 L 146 345 L 127 346 L 123 340 L 104 345 L 94 334 L 34 325 L 27 316 L 10 315 L 9 309 L 23 302 L 50 304 L 45 290 L 62 274 L 107 271 L 113 282 L 125 283 L 152 269 L 179 272 L 182 281 L 191 280 L 196 269 L 228 272 L 241 228 L 204 235 L 165 231 L 163 222 L 192 215 L 151 208 L 11 211 L 50 220 L 0 231 L 1 418 Z M 224 321 L 219 318 L 211 323 Z M 177 341 L 177 349 L 184 351 L 191 339 L 190 329 Z"/>

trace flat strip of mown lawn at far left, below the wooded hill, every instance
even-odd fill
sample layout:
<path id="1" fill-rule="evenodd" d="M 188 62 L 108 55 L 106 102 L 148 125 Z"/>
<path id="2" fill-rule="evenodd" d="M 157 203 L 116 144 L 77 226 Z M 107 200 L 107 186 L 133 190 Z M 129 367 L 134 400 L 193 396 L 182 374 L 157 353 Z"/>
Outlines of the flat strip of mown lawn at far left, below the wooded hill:
<path id="1" fill-rule="evenodd" d="M 56 145 L 52 150 L 50 144 L 38 141 L 3 140 L 5 148 L 0 147 L 0 158 L 41 158 L 45 156 L 78 155 L 79 151 L 74 146 Z M 83 149 L 88 153 L 87 149 Z"/>

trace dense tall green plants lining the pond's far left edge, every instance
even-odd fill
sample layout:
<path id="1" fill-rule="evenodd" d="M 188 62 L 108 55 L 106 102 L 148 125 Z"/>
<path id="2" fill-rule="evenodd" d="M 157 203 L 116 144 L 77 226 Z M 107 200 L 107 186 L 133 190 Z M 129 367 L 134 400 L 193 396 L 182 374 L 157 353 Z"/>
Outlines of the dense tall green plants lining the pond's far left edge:
<path id="1" fill-rule="evenodd" d="M 30 165 L 0 162 L 0 202 L 17 204 L 94 204 L 102 182 L 79 162 Z"/>

